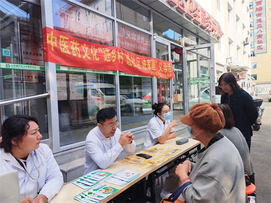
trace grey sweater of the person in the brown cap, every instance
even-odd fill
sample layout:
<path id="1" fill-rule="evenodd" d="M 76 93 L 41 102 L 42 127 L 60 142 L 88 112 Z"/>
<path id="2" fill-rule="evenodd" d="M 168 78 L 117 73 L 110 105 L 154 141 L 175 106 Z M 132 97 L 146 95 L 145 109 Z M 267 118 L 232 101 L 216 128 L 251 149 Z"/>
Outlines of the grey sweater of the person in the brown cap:
<path id="1" fill-rule="evenodd" d="M 224 136 L 203 149 L 189 175 L 192 184 L 182 192 L 186 202 L 245 203 L 243 163 L 234 144 Z"/>

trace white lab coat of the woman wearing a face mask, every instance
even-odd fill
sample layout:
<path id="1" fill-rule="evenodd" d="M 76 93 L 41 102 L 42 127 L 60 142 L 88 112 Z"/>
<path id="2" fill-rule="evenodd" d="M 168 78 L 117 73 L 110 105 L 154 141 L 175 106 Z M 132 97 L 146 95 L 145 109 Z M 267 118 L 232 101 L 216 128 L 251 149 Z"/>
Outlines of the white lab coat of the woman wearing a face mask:
<path id="1" fill-rule="evenodd" d="M 170 124 L 169 120 L 165 121 L 164 124 L 163 121 L 158 116 L 154 116 L 149 121 L 148 127 L 146 129 L 144 149 L 158 144 L 157 137 L 160 137 L 166 131 L 169 124 Z M 170 133 L 174 131 L 175 129 L 171 128 Z"/>

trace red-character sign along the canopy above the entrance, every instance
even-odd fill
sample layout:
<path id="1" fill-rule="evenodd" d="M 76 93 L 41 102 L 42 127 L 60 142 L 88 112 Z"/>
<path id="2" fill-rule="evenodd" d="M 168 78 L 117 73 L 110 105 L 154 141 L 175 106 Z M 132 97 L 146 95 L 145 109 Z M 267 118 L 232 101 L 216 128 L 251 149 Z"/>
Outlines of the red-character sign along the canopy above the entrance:
<path id="1" fill-rule="evenodd" d="M 177 12 L 184 14 L 191 19 L 196 25 L 213 34 L 217 38 L 221 38 L 221 27 L 215 22 L 215 19 L 210 16 L 195 0 L 167 0 L 170 5 L 176 8 Z"/>

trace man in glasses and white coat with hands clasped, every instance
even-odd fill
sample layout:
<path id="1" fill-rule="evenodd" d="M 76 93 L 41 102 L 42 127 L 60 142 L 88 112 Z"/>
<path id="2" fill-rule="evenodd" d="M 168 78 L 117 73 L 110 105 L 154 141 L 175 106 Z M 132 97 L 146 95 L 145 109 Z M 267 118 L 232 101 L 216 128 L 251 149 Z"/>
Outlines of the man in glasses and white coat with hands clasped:
<path id="1" fill-rule="evenodd" d="M 102 108 L 97 113 L 97 127 L 86 138 L 84 174 L 96 169 L 106 169 L 117 161 L 119 154 L 135 152 L 134 136 L 117 128 L 119 122 L 113 108 Z"/>

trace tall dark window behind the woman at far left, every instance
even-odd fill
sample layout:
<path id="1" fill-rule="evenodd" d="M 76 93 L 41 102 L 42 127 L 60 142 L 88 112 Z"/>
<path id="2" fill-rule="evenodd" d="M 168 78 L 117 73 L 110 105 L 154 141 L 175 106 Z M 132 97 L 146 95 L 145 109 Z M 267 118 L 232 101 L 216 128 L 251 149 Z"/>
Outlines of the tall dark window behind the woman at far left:
<path id="1" fill-rule="evenodd" d="M 44 94 L 45 72 L 34 66 L 44 65 L 40 6 L 22 0 L 1 0 L 0 46 L 13 50 L 10 56 L 0 57 L 0 62 L 7 63 L 5 68 L 0 68 L 0 101 Z M 11 69 L 11 66 L 19 69 Z M 27 70 L 30 67 L 37 70 Z M 39 121 L 42 139 L 48 138 L 44 125 L 47 123 L 46 98 L 30 101 L 28 108 L 28 102 L 5 105 L 2 119 L 17 114 L 29 115 L 30 111 Z"/>

